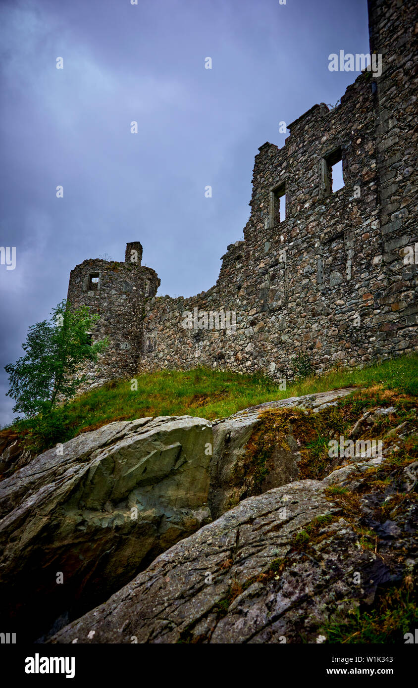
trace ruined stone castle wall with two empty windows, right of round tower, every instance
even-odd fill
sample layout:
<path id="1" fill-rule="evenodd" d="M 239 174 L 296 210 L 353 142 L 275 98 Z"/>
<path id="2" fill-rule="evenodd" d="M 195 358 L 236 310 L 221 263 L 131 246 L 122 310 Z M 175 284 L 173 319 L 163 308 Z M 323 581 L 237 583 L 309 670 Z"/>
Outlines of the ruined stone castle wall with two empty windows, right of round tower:
<path id="1" fill-rule="evenodd" d="M 124 299 L 119 282 L 117 297 L 106 297 L 104 318 L 117 312 L 125 327 L 116 350 L 125 338 L 132 347 L 115 353 L 118 365 L 105 354 L 106 374 L 205 365 L 288 378 L 299 352 L 320 372 L 418 349 L 417 264 L 403 253 L 418 241 L 414 11 L 407 0 L 370 0 L 370 52 L 382 54 L 382 76 L 363 72 L 338 107 L 315 105 L 292 122 L 282 148 L 260 147 L 244 241 L 228 246 L 215 286 L 189 299 L 137 286 Z M 339 156 L 344 188 L 332 193 Z M 126 309 L 138 321 L 129 325 Z M 235 314 L 235 331 L 207 329 L 206 317 L 222 310 Z M 197 327 L 182 327 L 186 312 Z"/>

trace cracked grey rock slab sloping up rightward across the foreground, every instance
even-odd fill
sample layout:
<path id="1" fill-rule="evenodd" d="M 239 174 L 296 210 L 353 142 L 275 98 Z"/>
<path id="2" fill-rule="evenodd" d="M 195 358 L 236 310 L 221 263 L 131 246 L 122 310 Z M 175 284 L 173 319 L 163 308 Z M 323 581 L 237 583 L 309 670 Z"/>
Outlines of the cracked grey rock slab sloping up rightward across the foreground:
<path id="1" fill-rule="evenodd" d="M 382 586 L 417 585 L 416 473 L 387 456 L 245 499 L 52 642 L 326 641 Z"/>

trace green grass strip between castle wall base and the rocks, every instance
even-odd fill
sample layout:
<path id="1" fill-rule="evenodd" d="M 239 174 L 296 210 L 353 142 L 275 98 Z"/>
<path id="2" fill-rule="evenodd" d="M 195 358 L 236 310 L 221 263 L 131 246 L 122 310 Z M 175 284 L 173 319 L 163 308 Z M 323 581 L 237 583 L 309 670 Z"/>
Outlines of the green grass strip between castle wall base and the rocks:
<path id="1" fill-rule="evenodd" d="M 74 433 L 100 427 L 112 420 L 134 420 L 144 416 L 200 416 L 224 418 L 241 409 L 266 401 L 339 389 L 373 387 L 397 389 L 418 396 L 418 354 L 363 369 L 331 370 L 286 385 L 286 390 L 269 378 L 240 375 L 205 368 L 160 371 L 138 375 L 138 389 L 130 380 L 108 383 L 74 399 L 69 420 Z"/>

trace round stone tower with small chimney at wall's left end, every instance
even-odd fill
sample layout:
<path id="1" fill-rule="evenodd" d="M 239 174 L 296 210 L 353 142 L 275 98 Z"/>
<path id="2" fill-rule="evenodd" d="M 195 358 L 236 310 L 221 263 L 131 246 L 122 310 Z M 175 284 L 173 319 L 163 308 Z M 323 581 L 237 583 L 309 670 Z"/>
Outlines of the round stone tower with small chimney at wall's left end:
<path id="1" fill-rule="evenodd" d="M 87 363 L 87 376 L 80 391 L 103 385 L 108 380 L 129 378 L 138 371 L 143 334 L 143 306 L 154 297 L 160 280 L 151 268 L 141 265 L 143 247 L 139 241 L 126 246 L 125 262 L 85 260 L 70 273 L 67 303 L 87 305 L 100 320 L 92 331 L 92 342 L 109 339 L 109 346 L 97 363 Z"/>

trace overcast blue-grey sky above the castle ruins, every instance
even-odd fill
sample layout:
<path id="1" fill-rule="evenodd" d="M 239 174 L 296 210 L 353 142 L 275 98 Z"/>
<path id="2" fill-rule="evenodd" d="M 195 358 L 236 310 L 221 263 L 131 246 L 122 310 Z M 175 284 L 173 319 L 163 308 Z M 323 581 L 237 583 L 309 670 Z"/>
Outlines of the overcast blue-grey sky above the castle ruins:
<path id="1" fill-rule="evenodd" d="M 0 12 L 0 246 L 17 250 L 14 270 L 0 266 L 3 424 L 3 366 L 76 264 L 123 260 L 139 240 L 159 294 L 215 283 L 243 238 L 258 147 L 337 102 L 357 74 L 329 72 L 328 55 L 367 53 L 368 29 L 366 0 L 1 0 Z"/>

